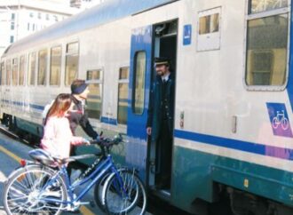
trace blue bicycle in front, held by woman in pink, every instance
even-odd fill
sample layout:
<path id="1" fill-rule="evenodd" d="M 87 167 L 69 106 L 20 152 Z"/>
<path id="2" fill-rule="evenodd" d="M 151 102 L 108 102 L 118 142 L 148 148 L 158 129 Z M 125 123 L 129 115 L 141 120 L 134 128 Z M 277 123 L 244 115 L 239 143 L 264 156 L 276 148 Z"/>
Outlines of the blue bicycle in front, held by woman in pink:
<path id="1" fill-rule="evenodd" d="M 96 203 L 107 214 L 144 214 L 147 208 L 147 193 L 136 170 L 117 169 L 110 148 L 122 141 L 115 139 L 91 141 L 98 144 L 101 157 L 91 172 L 73 183 L 67 174 L 67 163 L 96 155 L 79 155 L 65 159 L 51 156 L 42 149 L 29 152 L 35 163 L 26 163 L 12 172 L 4 186 L 4 209 L 7 214 L 60 214 L 61 211 L 77 211 L 81 199 L 93 187 Z M 57 165 L 57 166 L 56 166 Z M 55 169 L 52 168 L 54 166 Z M 75 189 L 91 182 L 80 194 Z M 103 182 L 103 186 L 101 186 Z M 99 189 L 102 189 L 100 192 Z M 99 203 L 97 203 L 99 204 Z M 141 208 L 137 206 L 140 205 Z"/>

